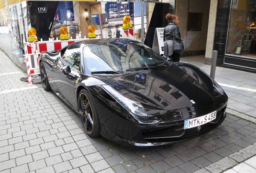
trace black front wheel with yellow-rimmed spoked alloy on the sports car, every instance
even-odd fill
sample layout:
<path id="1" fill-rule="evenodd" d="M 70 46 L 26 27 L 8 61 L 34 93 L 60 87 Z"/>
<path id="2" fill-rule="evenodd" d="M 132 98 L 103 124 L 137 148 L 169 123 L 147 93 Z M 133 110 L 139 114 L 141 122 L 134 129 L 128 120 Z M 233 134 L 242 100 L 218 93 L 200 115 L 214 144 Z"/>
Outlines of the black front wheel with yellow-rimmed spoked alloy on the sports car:
<path id="1" fill-rule="evenodd" d="M 82 89 L 78 96 L 78 112 L 85 132 L 90 137 L 99 137 L 99 117 L 93 99 L 85 89 Z"/>

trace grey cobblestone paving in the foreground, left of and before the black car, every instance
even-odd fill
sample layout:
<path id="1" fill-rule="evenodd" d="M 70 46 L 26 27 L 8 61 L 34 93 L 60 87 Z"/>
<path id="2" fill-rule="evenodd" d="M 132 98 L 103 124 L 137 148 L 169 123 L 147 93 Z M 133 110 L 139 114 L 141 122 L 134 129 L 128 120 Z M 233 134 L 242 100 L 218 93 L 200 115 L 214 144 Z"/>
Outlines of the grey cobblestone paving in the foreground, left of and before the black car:
<path id="1" fill-rule="evenodd" d="M 85 135 L 79 115 L 0 51 L 1 173 L 220 173 L 256 155 L 256 124 L 228 113 L 217 129 L 165 147 L 132 149 Z M 255 94 L 256 95 L 256 94 Z"/>

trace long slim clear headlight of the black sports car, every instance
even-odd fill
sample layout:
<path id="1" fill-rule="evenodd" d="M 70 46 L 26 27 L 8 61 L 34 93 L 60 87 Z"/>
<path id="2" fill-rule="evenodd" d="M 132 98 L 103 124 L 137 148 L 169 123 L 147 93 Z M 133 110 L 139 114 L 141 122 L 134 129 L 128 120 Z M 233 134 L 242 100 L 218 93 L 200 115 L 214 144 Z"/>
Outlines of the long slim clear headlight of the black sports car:
<path id="1" fill-rule="evenodd" d="M 102 87 L 106 89 L 115 99 L 117 99 L 131 113 L 134 113 L 135 115 L 143 116 L 143 117 L 148 115 L 146 110 L 140 103 L 124 97 L 123 95 L 121 95 L 120 93 L 118 93 L 116 90 L 114 90 L 112 87 L 108 85 L 102 85 Z"/>

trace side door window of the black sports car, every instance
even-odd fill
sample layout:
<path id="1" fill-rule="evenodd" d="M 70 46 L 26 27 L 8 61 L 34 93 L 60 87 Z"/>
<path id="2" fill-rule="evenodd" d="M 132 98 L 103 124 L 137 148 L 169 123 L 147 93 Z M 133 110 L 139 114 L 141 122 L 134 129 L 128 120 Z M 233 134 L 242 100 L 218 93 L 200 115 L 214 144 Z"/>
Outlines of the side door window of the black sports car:
<path id="1" fill-rule="evenodd" d="M 78 45 L 70 45 L 62 58 L 71 68 L 80 72 L 80 47 Z"/>

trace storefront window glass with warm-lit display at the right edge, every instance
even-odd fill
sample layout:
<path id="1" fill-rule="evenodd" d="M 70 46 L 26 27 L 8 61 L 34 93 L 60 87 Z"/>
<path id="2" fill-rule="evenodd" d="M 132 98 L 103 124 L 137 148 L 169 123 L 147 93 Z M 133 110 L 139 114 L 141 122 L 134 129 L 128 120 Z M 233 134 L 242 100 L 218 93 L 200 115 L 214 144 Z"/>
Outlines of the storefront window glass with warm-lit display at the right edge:
<path id="1" fill-rule="evenodd" d="M 256 58 L 255 7 L 256 0 L 232 1 L 226 53 Z"/>

